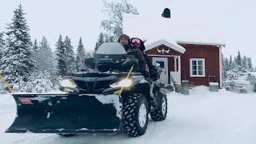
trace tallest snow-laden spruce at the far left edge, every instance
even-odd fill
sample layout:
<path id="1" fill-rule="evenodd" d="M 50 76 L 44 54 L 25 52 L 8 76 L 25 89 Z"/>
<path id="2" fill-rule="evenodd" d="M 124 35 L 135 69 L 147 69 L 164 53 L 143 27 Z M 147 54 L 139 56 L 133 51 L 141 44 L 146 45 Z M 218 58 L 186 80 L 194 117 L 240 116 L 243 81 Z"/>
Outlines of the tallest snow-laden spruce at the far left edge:
<path id="1" fill-rule="evenodd" d="M 14 10 L 12 22 L 7 26 L 6 49 L 2 52 L 0 72 L 11 84 L 19 77 L 26 82 L 34 69 L 34 61 L 31 59 L 30 29 L 24 15 L 22 5 L 19 5 Z"/>

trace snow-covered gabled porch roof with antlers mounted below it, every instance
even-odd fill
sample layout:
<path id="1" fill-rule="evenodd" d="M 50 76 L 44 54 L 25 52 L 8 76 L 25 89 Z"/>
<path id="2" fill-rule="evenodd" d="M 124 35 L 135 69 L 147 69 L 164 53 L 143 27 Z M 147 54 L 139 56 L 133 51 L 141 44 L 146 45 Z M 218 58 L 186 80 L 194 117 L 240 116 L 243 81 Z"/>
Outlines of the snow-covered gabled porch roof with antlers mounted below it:
<path id="1" fill-rule="evenodd" d="M 166 45 L 169 46 L 170 48 L 177 50 L 178 52 L 184 54 L 186 49 L 184 49 L 182 46 L 179 46 L 174 40 L 172 39 L 164 39 L 164 38 L 159 38 L 159 39 L 150 39 L 146 41 L 145 43 L 146 50 L 150 50 L 151 48 L 154 48 L 156 46 L 160 45 Z"/>

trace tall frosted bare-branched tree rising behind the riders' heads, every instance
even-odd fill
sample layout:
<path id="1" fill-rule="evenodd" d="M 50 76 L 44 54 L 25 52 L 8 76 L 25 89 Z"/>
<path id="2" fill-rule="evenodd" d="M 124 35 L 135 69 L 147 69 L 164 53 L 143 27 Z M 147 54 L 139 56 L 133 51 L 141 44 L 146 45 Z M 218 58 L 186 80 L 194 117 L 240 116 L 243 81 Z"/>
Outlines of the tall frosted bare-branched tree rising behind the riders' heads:
<path id="1" fill-rule="evenodd" d="M 108 35 L 109 40 L 117 42 L 118 37 L 122 34 L 122 14 L 138 14 L 136 7 L 132 6 L 127 0 L 106 1 L 104 0 L 105 12 L 109 19 L 102 21 L 102 28 Z"/>

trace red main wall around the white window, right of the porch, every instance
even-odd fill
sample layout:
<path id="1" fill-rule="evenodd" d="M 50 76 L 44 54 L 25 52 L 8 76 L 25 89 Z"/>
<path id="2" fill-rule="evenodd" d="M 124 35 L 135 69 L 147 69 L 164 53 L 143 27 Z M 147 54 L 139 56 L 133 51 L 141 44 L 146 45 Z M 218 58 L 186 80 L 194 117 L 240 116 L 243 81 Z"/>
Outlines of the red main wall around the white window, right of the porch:
<path id="1" fill-rule="evenodd" d="M 182 54 L 182 80 L 190 81 L 190 86 L 209 86 L 210 81 L 216 80 L 220 82 L 220 66 L 219 66 L 219 48 L 217 46 L 180 44 L 186 49 Z M 190 77 L 190 58 L 205 58 L 206 77 Z"/>

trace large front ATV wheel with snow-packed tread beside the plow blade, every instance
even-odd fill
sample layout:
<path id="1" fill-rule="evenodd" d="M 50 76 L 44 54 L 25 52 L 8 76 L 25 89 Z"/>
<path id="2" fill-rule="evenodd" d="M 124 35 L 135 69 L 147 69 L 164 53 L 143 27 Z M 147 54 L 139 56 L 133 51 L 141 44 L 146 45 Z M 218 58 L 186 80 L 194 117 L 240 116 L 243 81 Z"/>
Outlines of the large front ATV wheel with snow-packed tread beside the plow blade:
<path id="1" fill-rule="evenodd" d="M 148 103 L 142 94 L 133 94 L 126 98 L 123 106 L 123 128 L 131 137 L 145 134 L 148 124 Z"/>

